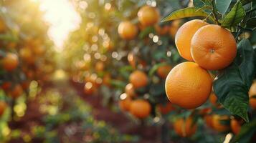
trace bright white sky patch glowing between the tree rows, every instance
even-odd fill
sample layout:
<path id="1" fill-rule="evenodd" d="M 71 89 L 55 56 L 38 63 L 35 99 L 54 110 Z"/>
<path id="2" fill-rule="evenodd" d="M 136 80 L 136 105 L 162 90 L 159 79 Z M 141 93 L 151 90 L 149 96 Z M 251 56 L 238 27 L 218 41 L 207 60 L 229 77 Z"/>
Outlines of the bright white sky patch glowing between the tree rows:
<path id="1" fill-rule="evenodd" d="M 44 11 L 44 21 L 50 25 L 48 35 L 54 41 L 57 51 L 62 51 L 70 31 L 78 28 L 80 15 L 69 0 L 32 1 L 39 2 L 40 9 Z"/>

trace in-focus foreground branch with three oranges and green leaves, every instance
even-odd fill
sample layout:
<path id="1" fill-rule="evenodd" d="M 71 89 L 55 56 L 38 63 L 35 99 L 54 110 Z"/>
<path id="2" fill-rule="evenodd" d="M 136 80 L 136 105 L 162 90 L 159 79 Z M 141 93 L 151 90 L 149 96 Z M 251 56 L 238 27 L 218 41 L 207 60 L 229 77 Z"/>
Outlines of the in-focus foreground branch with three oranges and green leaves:
<path id="1" fill-rule="evenodd" d="M 188 61 L 170 71 L 166 94 L 185 109 L 200 107 L 209 97 L 214 106 L 206 108 L 205 122 L 218 132 L 231 129 L 232 142 L 255 141 L 255 6 L 250 0 L 194 0 L 163 19 L 203 17 L 186 22 L 176 34 L 179 54 Z M 202 71 L 215 77 L 213 91 L 210 74 L 206 79 Z"/>

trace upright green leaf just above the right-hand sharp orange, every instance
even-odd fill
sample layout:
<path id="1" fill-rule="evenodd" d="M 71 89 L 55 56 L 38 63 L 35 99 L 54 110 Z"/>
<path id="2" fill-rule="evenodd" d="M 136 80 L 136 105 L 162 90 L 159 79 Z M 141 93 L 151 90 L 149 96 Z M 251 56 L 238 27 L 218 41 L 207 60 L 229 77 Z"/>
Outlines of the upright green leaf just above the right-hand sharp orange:
<path id="1" fill-rule="evenodd" d="M 244 17 L 245 9 L 242 6 L 242 3 L 240 1 L 237 1 L 237 3 L 234 4 L 231 11 L 229 11 L 227 16 L 224 17 L 222 21 L 222 26 L 227 28 L 237 26 L 237 24 L 239 24 L 242 21 L 242 19 L 244 19 Z"/>

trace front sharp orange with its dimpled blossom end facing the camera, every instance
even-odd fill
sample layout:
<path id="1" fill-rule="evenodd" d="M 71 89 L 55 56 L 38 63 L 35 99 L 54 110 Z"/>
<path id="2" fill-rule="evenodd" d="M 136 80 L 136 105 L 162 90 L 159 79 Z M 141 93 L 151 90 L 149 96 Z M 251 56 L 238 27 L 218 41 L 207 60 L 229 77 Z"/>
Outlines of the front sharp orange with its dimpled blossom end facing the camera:
<path id="1" fill-rule="evenodd" d="M 229 66 L 237 55 L 237 43 L 231 32 L 218 25 L 200 28 L 191 40 L 191 55 L 204 69 Z"/>

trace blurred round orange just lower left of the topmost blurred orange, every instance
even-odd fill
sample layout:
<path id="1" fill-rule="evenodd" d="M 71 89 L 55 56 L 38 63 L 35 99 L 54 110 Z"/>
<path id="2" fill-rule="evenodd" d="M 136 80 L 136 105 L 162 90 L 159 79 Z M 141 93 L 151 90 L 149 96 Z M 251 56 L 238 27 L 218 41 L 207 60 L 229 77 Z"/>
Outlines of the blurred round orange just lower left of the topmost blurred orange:
<path id="1" fill-rule="evenodd" d="M 137 26 L 131 23 L 131 21 L 123 21 L 118 26 L 118 34 L 122 39 L 133 39 L 137 33 Z"/>

